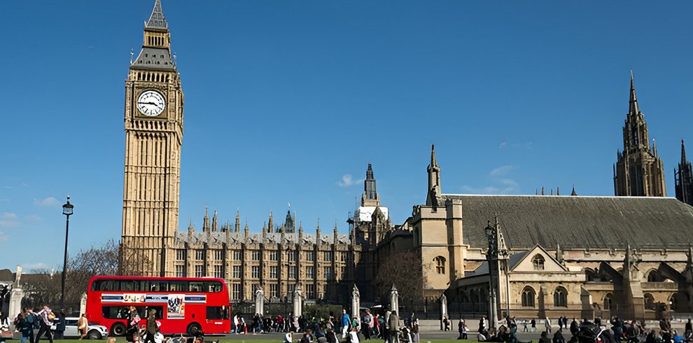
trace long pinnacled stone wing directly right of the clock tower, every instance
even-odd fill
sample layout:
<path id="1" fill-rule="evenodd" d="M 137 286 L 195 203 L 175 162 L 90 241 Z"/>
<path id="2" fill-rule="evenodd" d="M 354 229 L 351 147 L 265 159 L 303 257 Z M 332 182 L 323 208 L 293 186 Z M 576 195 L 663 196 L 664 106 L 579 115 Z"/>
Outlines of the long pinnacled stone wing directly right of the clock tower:
<path id="1" fill-rule="evenodd" d="M 348 235 L 340 235 L 337 225 L 324 235 L 319 225 L 314 235 L 304 234 L 299 224 L 297 233 L 284 231 L 250 233 L 236 225 L 216 225 L 197 232 L 191 224 L 188 232 L 179 232 L 170 246 L 172 276 L 214 276 L 227 280 L 232 301 L 251 301 L 261 288 L 270 302 L 290 300 L 300 286 L 309 300 L 347 299 L 353 285 L 354 261 L 360 249 L 350 244 Z M 209 223 L 205 215 L 204 223 Z M 281 227 L 283 228 L 283 226 Z"/>

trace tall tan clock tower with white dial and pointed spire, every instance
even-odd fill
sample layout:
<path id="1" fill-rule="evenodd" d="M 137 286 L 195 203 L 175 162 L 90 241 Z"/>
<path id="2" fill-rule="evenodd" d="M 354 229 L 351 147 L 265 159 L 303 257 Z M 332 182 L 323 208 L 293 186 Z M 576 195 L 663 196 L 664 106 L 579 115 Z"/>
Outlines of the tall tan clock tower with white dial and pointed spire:
<path id="1" fill-rule="evenodd" d="M 120 269 L 167 276 L 178 231 L 183 142 L 181 76 L 160 0 L 125 81 L 125 182 Z"/>

